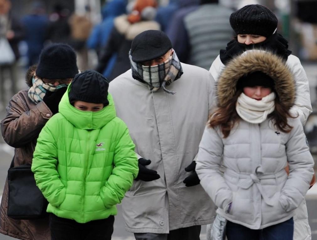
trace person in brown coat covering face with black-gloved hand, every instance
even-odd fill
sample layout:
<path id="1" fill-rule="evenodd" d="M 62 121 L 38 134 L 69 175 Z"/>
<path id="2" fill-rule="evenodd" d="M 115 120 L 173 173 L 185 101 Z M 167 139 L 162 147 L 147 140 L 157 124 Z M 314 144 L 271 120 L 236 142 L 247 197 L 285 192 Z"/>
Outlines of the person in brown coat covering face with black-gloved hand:
<path id="1" fill-rule="evenodd" d="M 58 103 L 67 85 L 78 73 L 76 54 L 65 44 L 42 50 L 38 66 L 26 74 L 28 89 L 14 95 L 1 122 L 4 141 L 14 151 L 14 166 L 31 164 L 37 137 L 45 123 L 58 112 Z M 49 240 L 49 218 L 15 220 L 7 216 L 8 182 L 0 207 L 0 233 L 23 240 Z"/>

